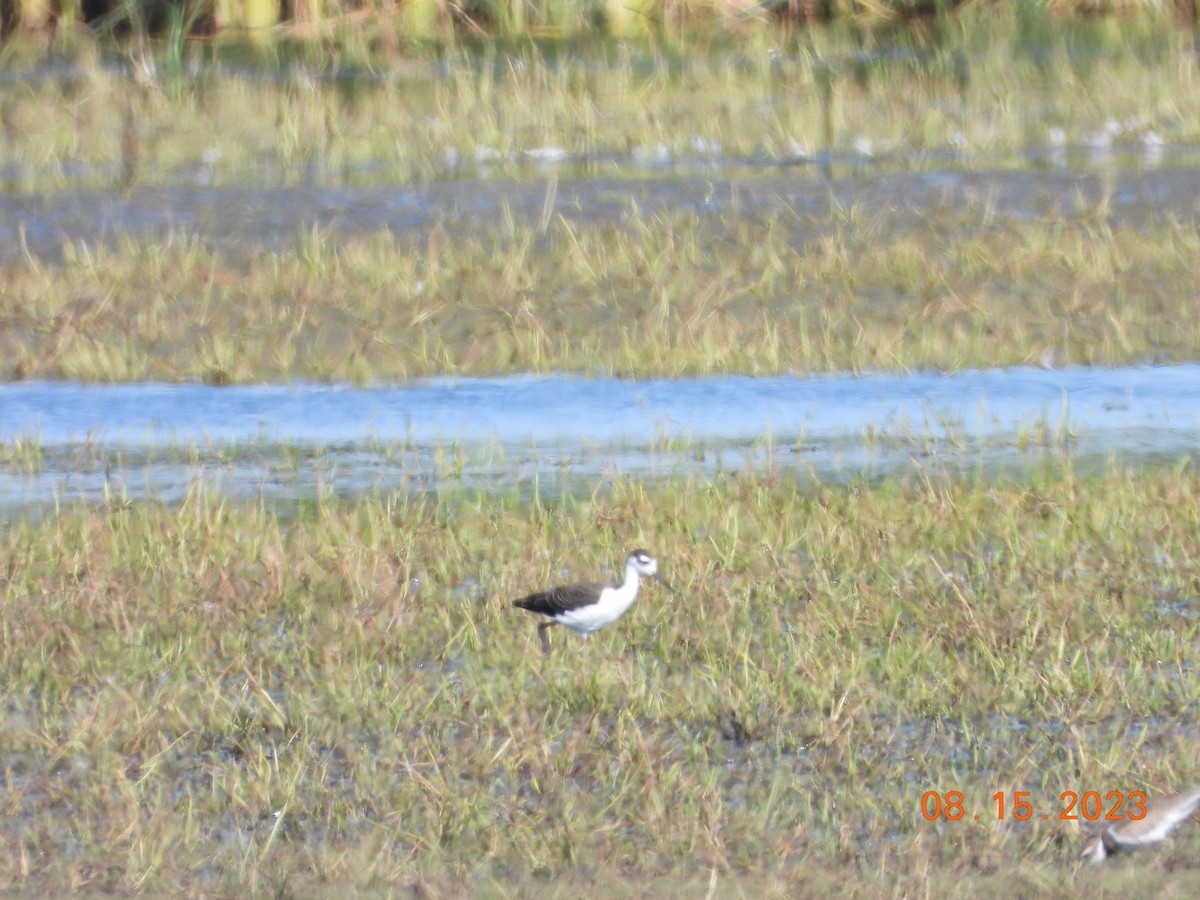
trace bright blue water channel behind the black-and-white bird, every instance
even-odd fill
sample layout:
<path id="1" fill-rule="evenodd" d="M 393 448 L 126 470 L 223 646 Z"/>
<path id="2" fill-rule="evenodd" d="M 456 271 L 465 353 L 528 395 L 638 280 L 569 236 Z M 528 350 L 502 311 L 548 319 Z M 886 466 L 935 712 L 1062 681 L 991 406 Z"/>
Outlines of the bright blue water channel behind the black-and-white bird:
<path id="1" fill-rule="evenodd" d="M 0 385 L 0 515 L 62 502 L 450 484 L 594 490 L 617 473 L 781 466 L 816 480 L 1020 468 L 1046 454 L 1175 461 L 1200 439 L 1200 365 L 952 374 L 433 378 L 355 389 Z"/>

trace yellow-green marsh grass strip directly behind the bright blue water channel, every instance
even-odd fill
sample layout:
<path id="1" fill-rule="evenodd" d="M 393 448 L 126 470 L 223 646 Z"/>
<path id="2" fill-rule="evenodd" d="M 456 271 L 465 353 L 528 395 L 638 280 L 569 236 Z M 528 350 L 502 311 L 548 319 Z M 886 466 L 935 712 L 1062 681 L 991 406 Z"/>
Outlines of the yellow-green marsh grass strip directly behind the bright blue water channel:
<path id="1" fill-rule="evenodd" d="M 542 230 L 196 239 L 0 272 L 10 378 L 372 383 L 1187 361 L 1190 222 L 640 211 Z M 103 288 L 97 288 L 103 286 Z"/>

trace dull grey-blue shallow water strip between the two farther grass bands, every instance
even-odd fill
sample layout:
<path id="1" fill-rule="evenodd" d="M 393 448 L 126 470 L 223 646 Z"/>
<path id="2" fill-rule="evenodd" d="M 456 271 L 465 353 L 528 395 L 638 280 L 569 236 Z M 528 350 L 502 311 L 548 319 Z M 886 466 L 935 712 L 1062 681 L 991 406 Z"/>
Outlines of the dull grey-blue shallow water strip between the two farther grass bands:
<path id="1" fill-rule="evenodd" d="M 1058 152 L 1058 151 L 1056 151 Z M 1066 154 L 1067 150 L 1061 150 Z M 508 223 L 535 226 L 548 212 L 568 222 L 620 223 L 632 210 L 737 220 L 786 211 L 823 233 L 834 210 L 856 209 L 889 227 L 924 227 L 935 211 L 985 211 L 988 217 L 1042 218 L 1090 215 L 1103 204 L 1106 218 L 1134 227 L 1190 221 L 1198 202 L 1198 154 L 1177 151 L 1180 164 L 1147 168 L 1139 157 L 1118 157 L 1088 172 L 1021 158 L 1020 168 L 974 160 L 763 162 L 700 173 L 612 174 L 600 167 L 586 176 L 570 169 L 539 176 L 449 178 L 428 184 L 312 184 L 278 187 L 185 184 L 130 191 L 79 188 L 52 194 L 0 192 L 0 264 L 28 258 L 55 262 L 66 246 L 97 246 L 122 238 L 164 240 L 194 236 L 232 254 L 280 251 L 304 235 L 331 239 L 389 233 L 424 236 L 433 229 L 486 236 Z M 1074 161 L 1074 157 L 1070 157 Z M 1012 163 L 1012 161 L 1009 161 Z M 985 167 L 971 169 L 967 166 Z M 997 168 L 986 168 L 996 166 Z M 805 228 L 798 230 L 805 239 Z"/>

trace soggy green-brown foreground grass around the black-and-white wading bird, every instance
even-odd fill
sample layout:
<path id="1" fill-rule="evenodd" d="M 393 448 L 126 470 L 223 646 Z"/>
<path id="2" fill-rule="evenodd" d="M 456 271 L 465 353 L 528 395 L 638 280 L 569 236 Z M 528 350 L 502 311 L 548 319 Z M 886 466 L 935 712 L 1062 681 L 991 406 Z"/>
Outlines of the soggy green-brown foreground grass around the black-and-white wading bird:
<path id="1" fill-rule="evenodd" d="M 1198 510 L 1180 468 L 10 523 L 0 884 L 1116 893 L 1060 796 L 1200 779 Z M 509 600 L 635 545 L 683 600 L 542 658 Z M 1194 892 L 1194 847 L 1138 877 Z"/>

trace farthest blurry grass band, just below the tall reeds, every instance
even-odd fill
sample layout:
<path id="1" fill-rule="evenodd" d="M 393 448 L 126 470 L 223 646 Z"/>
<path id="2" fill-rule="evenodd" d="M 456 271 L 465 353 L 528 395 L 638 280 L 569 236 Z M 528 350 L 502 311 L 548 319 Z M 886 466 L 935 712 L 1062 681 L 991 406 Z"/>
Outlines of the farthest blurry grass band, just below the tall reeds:
<path id="1" fill-rule="evenodd" d="M 137 42 L 67 31 L 4 50 L 5 168 L 22 190 L 407 181 L 583 158 L 919 158 L 1198 138 L 1190 35 L 1166 16 L 1062 20 L 1033 5 L 913 29 L 643 42 Z M 58 77 L 48 77 L 50 68 Z M 32 70 L 32 71 L 30 71 Z M 22 78 L 22 73 L 28 77 Z M 122 149 L 124 148 L 124 149 Z"/>

